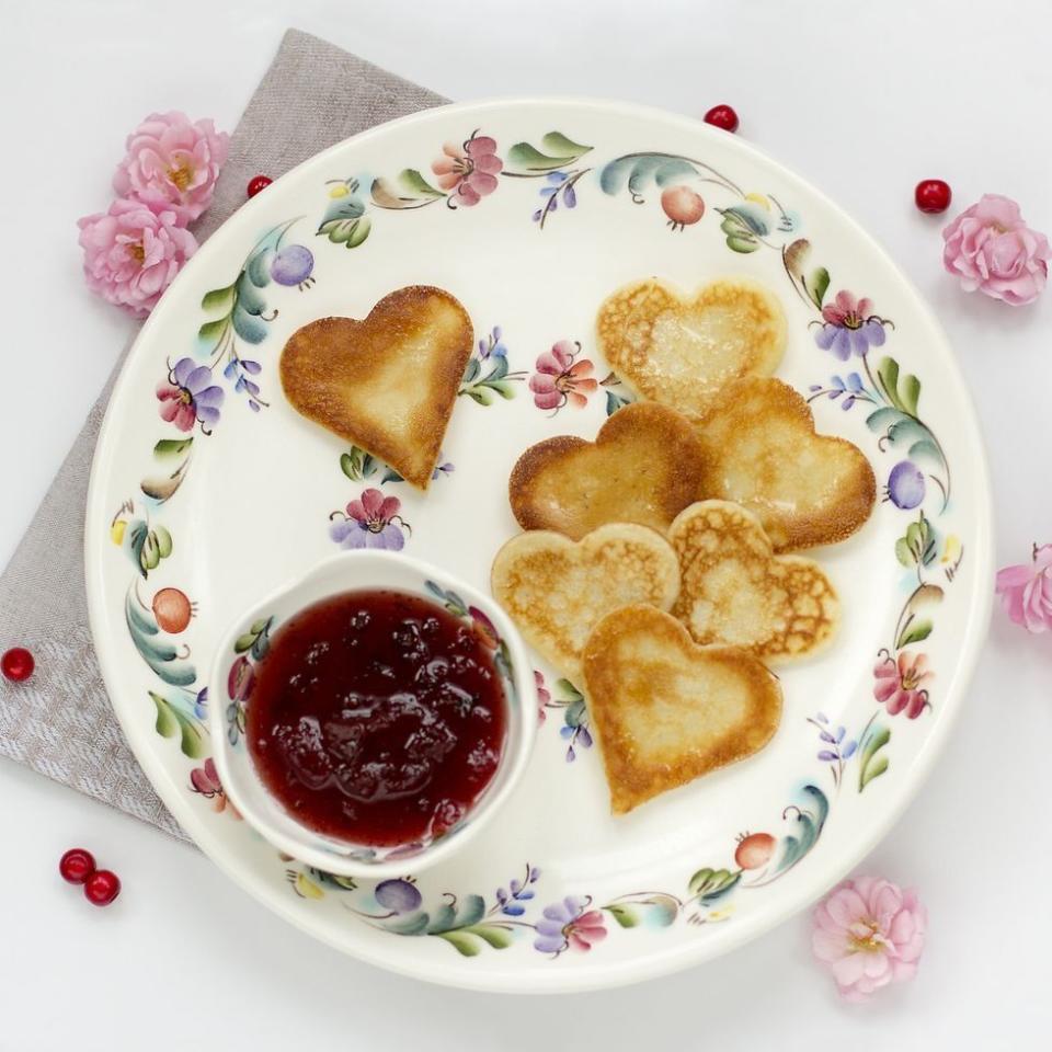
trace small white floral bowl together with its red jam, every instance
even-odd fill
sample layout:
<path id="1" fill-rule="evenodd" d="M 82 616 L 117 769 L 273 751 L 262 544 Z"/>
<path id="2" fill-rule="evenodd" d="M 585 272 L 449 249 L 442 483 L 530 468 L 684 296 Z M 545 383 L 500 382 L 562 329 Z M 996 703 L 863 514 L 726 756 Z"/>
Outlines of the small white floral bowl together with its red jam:
<path id="1" fill-rule="evenodd" d="M 512 791 L 537 723 L 496 604 L 382 551 L 336 556 L 240 617 L 213 690 L 231 802 L 342 876 L 399 876 L 462 846 Z"/>

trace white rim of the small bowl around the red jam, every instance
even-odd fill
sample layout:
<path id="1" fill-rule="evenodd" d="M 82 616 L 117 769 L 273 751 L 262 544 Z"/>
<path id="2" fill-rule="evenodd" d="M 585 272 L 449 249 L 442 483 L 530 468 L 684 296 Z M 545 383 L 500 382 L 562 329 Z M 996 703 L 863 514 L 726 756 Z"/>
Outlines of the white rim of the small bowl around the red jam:
<path id="1" fill-rule="evenodd" d="M 507 691 L 503 690 L 504 704 L 507 709 L 508 733 L 505 739 L 506 746 L 501 761 L 496 766 L 490 785 L 496 780 L 498 776 L 505 773 L 503 785 L 499 786 L 493 792 L 483 797 L 474 807 L 472 807 L 460 824 L 455 834 L 443 836 L 420 853 L 412 856 L 397 856 L 380 861 L 368 861 L 362 858 L 354 858 L 350 855 L 339 854 L 339 851 L 328 851 L 322 848 L 306 844 L 289 833 L 277 828 L 256 805 L 254 800 L 247 799 L 243 787 L 241 786 L 241 776 L 232 767 L 233 748 L 229 736 L 227 735 L 226 705 L 209 706 L 208 723 L 211 734 L 213 761 L 219 775 L 219 781 L 224 791 L 230 798 L 230 802 L 238 809 L 244 821 L 263 837 L 268 844 L 290 855 L 309 866 L 313 866 L 324 872 L 334 873 L 340 877 L 358 877 L 364 879 L 382 880 L 391 877 L 400 877 L 405 872 L 407 866 L 410 866 L 414 873 L 423 872 L 427 867 L 448 859 L 469 844 L 480 830 L 493 819 L 498 811 L 507 802 L 526 768 L 529 766 L 529 759 L 533 756 L 534 744 L 537 737 L 537 690 L 534 683 L 533 664 L 526 650 L 518 629 L 512 622 L 512 619 L 504 613 L 500 604 L 492 597 L 483 595 L 478 588 L 461 581 L 456 574 L 451 574 L 433 563 L 428 563 L 413 556 L 407 556 L 402 552 L 382 551 L 378 549 L 366 549 L 361 551 L 340 551 L 333 556 L 322 559 L 311 565 L 305 573 L 297 574 L 283 582 L 275 588 L 272 588 L 261 598 L 249 604 L 231 622 L 229 628 L 217 636 L 219 645 L 216 649 L 215 656 L 208 677 L 208 686 L 213 696 L 225 697 L 224 690 L 227 683 L 227 673 L 231 661 L 233 641 L 241 634 L 244 625 L 267 613 L 267 608 L 282 604 L 289 605 L 288 598 L 305 586 L 308 590 L 320 586 L 320 594 L 316 595 L 309 602 L 295 605 L 295 610 L 288 617 L 295 616 L 304 609 L 308 609 L 316 603 L 325 598 L 332 598 L 338 595 L 356 591 L 353 586 L 339 583 L 338 574 L 334 571 L 344 571 L 348 567 L 361 564 L 363 562 L 378 563 L 381 568 L 398 567 L 409 570 L 412 574 L 419 575 L 421 582 L 434 581 L 447 587 L 455 590 L 459 595 L 466 598 L 472 606 L 478 607 L 494 624 L 501 639 L 507 645 L 511 654 L 511 685 L 515 691 L 516 699 L 508 697 Z M 332 587 L 327 588 L 327 583 L 333 582 Z M 363 585 L 363 590 L 385 587 L 384 585 Z M 391 591 L 410 590 L 400 585 L 392 584 Z M 410 593 L 415 594 L 415 593 Z M 420 596 L 426 598 L 435 605 L 441 605 L 434 595 L 428 595 L 421 584 Z M 286 617 L 287 620 L 287 617 Z M 516 711 L 516 705 L 518 711 Z M 251 753 L 245 744 L 245 762 L 254 770 L 254 764 Z M 281 808 L 281 802 L 267 790 L 262 779 L 256 778 L 263 787 L 264 794 L 270 799 L 275 808 Z M 294 815 L 289 814 L 293 825 L 302 830 L 304 837 L 312 839 L 329 839 L 334 845 L 340 844 L 339 837 L 329 837 L 324 834 L 310 830 L 307 825 L 299 822 Z M 347 842 L 350 847 L 368 847 L 369 845 L 354 845 Z"/>

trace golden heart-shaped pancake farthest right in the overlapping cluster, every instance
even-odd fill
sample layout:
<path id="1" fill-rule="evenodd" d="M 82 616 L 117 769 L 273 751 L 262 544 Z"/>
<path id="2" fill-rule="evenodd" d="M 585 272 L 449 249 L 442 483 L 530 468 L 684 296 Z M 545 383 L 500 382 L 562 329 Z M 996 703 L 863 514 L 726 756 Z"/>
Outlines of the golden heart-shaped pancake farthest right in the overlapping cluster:
<path id="1" fill-rule="evenodd" d="M 728 385 L 698 435 L 698 499 L 748 508 L 775 551 L 844 540 L 873 510 L 877 480 L 866 455 L 846 438 L 815 434 L 810 407 L 781 380 Z"/>

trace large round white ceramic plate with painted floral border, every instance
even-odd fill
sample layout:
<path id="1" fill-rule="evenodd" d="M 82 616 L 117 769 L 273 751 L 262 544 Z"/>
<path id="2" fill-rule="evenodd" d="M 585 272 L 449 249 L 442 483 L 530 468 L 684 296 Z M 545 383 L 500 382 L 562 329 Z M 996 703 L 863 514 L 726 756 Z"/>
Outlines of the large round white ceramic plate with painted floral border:
<path id="1" fill-rule="evenodd" d="M 666 215 L 663 192 L 677 187 Z M 701 218 L 671 227 L 696 219 L 697 198 Z M 815 552 L 842 593 L 843 631 L 820 660 L 784 673 L 771 744 L 615 820 L 587 713 L 538 665 L 549 707 L 531 768 L 465 854 L 418 883 L 378 887 L 279 858 L 225 807 L 207 761 L 208 705 L 233 705 L 237 733 L 236 702 L 199 696 L 218 636 L 338 542 L 403 544 L 485 587 L 516 529 L 506 480 L 518 455 L 550 435 L 594 436 L 630 397 L 596 354 L 602 299 L 649 275 L 690 288 L 733 274 L 780 296 L 779 376 L 814 396 L 821 431 L 870 456 L 891 498 L 851 540 Z M 426 496 L 299 418 L 277 379 L 299 325 L 364 317 L 410 284 L 453 293 L 480 341 Z M 193 371 L 209 365 L 210 377 Z M 655 111 L 450 106 L 278 180 L 164 296 L 99 442 L 91 621 L 140 763 L 245 890 L 399 972 L 575 991 L 758 935 L 888 832 L 946 737 L 985 632 L 990 510 L 941 331 L 883 252 L 805 183 L 732 135 Z"/>

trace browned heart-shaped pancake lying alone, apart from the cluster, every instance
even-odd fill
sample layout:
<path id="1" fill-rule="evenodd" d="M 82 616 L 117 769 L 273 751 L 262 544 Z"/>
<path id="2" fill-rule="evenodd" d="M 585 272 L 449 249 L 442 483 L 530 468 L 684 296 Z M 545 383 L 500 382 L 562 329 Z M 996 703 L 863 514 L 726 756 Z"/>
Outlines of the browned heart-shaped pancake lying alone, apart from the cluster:
<path id="1" fill-rule="evenodd" d="M 426 490 L 471 356 L 471 319 L 441 288 L 411 285 L 367 318 L 319 318 L 282 352 L 282 386 L 308 420 Z"/>

